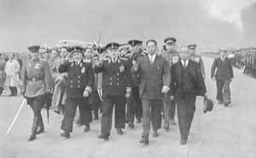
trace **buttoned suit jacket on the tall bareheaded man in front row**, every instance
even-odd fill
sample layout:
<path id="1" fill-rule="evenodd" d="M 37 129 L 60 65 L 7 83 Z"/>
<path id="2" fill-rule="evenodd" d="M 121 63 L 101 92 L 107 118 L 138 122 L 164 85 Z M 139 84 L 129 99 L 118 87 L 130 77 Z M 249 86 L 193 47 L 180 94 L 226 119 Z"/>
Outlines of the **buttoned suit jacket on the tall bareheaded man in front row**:
<path id="1" fill-rule="evenodd" d="M 147 55 L 139 58 L 137 65 L 137 72 L 141 76 L 140 98 L 146 94 L 147 99 L 160 99 L 162 87 L 169 87 L 171 82 L 170 66 L 166 59 L 156 55 L 154 63 L 151 65 Z M 131 68 L 131 72 L 136 72 L 134 67 Z"/>

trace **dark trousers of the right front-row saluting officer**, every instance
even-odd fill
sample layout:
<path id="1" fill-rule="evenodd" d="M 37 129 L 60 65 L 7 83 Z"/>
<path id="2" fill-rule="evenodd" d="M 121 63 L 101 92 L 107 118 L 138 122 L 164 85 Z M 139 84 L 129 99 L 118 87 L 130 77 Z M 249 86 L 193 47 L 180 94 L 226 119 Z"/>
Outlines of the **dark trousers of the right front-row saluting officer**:
<path id="1" fill-rule="evenodd" d="M 125 128 L 125 95 L 103 95 L 102 135 L 110 135 L 114 104 L 114 127 Z"/>

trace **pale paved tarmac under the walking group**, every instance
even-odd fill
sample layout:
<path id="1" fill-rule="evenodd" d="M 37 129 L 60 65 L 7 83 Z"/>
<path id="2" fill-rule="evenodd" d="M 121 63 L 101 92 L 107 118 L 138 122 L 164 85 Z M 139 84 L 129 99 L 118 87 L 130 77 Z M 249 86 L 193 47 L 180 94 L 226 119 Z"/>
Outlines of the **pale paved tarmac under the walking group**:
<path id="1" fill-rule="evenodd" d="M 195 117 L 185 145 L 179 144 L 178 125 L 168 131 L 161 128 L 157 138 L 150 133 L 148 145 L 139 144 L 143 132 L 141 123 L 135 123 L 132 129 L 126 126 L 122 136 L 113 127 L 108 141 L 96 138 L 100 133 L 101 121 L 93 121 L 89 133 L 83 133 L 84 126 L 74 124 L 71 138 L 62 138 L 62 116 L 56 115 L 53 108 L 49 110 L 49 124 L 46 110 L 42 111 L 45 133 L 27 142 L 32 127 L 32 110 L 25 105 L 15 125 L 6 134 L 23 98 L 8 97 L 9 93 L 4 93 L 0 97 L 0 157 L 256 157 L 256 80 L 234 68 L 235 78 L 230 84 L 232 103 L 224 107 L 215 99 L 216 84 L 210 78 L 213 59 L 203 57 L 203 60 L 207 72 L 208 98 L 213 100 L 214 107 L 212 112 L 204 114 L 203 98 L 197 97 Z"/>

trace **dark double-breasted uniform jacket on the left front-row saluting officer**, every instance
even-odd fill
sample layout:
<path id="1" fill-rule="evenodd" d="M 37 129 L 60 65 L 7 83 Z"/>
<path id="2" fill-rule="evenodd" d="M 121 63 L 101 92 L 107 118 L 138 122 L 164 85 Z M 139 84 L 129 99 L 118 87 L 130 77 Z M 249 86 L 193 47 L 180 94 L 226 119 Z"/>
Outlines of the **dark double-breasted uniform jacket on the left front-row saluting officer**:
<path id="1" fill-rule="evenodd" d="M 94 74 L 91 63 L 80 60 L 76 65 L 73 60 L 61 64 L 59 72 L 67 72 L 66 93 L 67 98 L 83 98 L 84 90 L 91 92 L 94 84 Z"/>

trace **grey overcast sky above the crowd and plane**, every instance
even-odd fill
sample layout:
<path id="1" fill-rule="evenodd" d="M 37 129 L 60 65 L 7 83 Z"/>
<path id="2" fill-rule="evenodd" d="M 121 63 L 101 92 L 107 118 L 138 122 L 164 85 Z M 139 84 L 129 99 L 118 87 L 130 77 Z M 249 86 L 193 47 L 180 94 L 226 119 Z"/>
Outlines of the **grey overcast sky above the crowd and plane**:
<path id="1" fill-rule="evenodd" d="M 255 0 L 0 0 L 0 52 L 61 39 L 176 37 L 178 48 L 256 47 Z"/>

